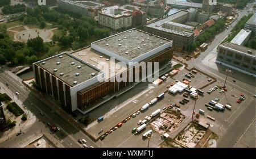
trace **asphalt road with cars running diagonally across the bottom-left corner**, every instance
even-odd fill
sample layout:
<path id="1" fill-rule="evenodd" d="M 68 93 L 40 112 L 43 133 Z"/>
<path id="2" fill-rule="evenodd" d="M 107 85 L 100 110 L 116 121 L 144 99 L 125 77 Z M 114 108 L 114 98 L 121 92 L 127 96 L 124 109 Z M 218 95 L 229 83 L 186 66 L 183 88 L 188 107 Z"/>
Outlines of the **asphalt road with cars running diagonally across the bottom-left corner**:
<path id="1" fill-rule="evenodd" d="M 44 101 L 40 95 L 35 94 L 34 92 L 28 90 L 22 83 L 16 81 L 9 74 L 4 72 L 0 73 L 0 82 L 9 83 L 9 90 L 15 93 L 19 92 L 19 99 L 23 102 L 23 105 L 26 106 L 36 118 L 38 118 L 37 122 L 43 123 L 41 126 L 32 126 L 27 130 L 24 130 L 24 134 L 33 134 L 36 131 L 40 131 L 42 129 L 43 132 L 49 133 L 49 127 L 47 126 L 47 122 L 51 124 L 55 124 L 57 127 L 60 127 L 61 131 L 55 133 L 56 139 L 59 139 L 60 143 L 64 145 L 64 147 L 81 147 L 81 144 L 77 143 L 77 139 L 85 139 L 87 141 L 87 145 L 92 145 L 93 147 L 97 147 L 96 144 L 92 140 L 89 139 L 88 136 L 84 135 L 78 128 L 74 127 L 71 123 L 69 123 L 63 116 L 57 114 L 55 111 L 51 109 L 50 106 Z M 44 116 L 40 115 L 40 111 L 44 113 Z M 38 123 L 35 123 L 38 124 Z M 47 127 L 47 129 L 46 129 Z M 18 137 L 14 137 L 13 143 L 11 140 L 7 140 L 4 143 L 0 144 L 0 147 L 9 147 L 10 145 L 13 147 L 18 147 L 15 143 L 21 141 L 24 137 L 20 135 Z"/>

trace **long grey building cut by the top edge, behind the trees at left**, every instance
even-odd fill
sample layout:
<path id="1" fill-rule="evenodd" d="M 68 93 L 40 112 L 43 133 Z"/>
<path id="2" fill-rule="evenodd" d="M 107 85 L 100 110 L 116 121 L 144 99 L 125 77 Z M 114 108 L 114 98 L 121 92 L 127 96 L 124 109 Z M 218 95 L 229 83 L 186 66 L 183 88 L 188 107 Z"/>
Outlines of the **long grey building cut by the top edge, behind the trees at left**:
<path id="1" fill-rule="evenodd" d="M 104 5 L 93 1 L 57 0 L 57 7 L 76 14 L 96 18 L 98 16 L 98 10 L 104 7 Z"/>

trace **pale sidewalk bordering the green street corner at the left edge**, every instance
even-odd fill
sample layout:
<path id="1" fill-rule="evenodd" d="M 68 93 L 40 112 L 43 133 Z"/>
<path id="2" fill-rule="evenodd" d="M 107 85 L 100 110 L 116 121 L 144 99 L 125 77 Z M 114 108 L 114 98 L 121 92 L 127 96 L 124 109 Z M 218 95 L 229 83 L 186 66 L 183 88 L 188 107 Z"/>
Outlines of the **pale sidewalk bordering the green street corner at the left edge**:
<path id="1" fill-rule="evenodd" d="M 3 141 L 8 140 L 10 137 L 16 135 L 16 133 L 21 131 L 26 130 L 28 127 L 30 127 L 30 125 L 34 124 L 36 121 L 36 117 L 34 114 L 32 114 L 31 111 L 27 110 L 26 108 L 24 108 L 22 101 L 20 101 L 16 95 L 14 95 L 13 93 L 11 93 L 11 91 L 3 84 L 0 82 L 0 93 L 6 93 L 7 95 L 9 95 L 10 98 L 12 98 L 11 102 L 13 102 L 13 99 L 15 101 L 16 104 L 18 104 L 18 106 L 20 108 L 22 108 L 22 110 L 24 111 L 24 113 L 27 114 L 27 120 L 26 121 L 22 121 L 22 115 L 20 116 L 14 116 L 14 114 L 12 112 L 9 112 L 6 109 L 6 106 L 4 106 L 4 112 L 5 112 L 5 117 L 6 120 L 9 119 L 9 117 L 11 118 L 11 121 L 16 121 L 16 126 L 14 128 L 11 128 L 5 132 L 0 133 L 0 143 L 2 143 Z M 7 113 L 6 113 L 7 112 Z"/>

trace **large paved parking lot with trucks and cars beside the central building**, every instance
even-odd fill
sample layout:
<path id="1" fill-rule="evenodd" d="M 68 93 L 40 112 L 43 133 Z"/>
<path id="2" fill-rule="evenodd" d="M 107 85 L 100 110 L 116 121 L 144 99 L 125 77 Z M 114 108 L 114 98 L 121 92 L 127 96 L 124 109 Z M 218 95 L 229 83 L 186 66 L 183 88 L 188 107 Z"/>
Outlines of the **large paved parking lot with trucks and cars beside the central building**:
<path id="1" fill-rule="evenodd" d="M 131 132 L 133 128 L 138 127 L 138 121 L 143 120 L 145 116 L 150 116 L 152 112 L 159 108 L 163 111 L 163 107 L 168 107 L 170 104 L 178 104 L 180 106 L 180 111 L 185 116 L 185 118 L 191 119 L 195 102 L 195 114 L 199 113 L 199 109 L 204 110 L 204 115 L 201 114 L 199 120 L 201 122 L 211 124 L 213 127 L 209 127 L 209 129 L 217 135 L 221 135 L 225 129 L 228 128 L 229 124 L 232 123 L 234 119 L 236 119 L 237 114 L 243 111 L 243 107 L 245 107 L 246 103 L 250 103 L 251 100 L 253 100 L 253 97 L 249 97 L 249 95 L 246 95 L 238 91 L 236 88 L 230 87 L 228 85 L 226 85 L 227 91 L 222 91 L 222 93 L 220 93 L 219 91 L 221 89 L 216 89 L 212 91 L 212 93 L 208 94 L 207 91 L 209 89 L 214 86 L 223 86 L 224 83 L 218 81 L 214 82 L 213 78 L 210 78 L 207 75 L 199 72 L 197 72 L 197 74 L 193 74 L 195 77 L 185 77 L 185 74 L 188 72 L 189 71 L 186 69 L 180 70 L 176 76 L 172 78 L 168 77 L 167 80 L 158 87 L 146 91 L 146 93 L 141 94 L 134 101 L 126 103 L 125 107 L 114 112 L 112 115 L 109 115 L 108 118 L 104 119 L 104 121 L 101 123 L 97 123 L 94 125 L 94 127 L 91 127 L 90 131 L 94 131 L 96 136 L 101 136 L 108 130 L 115 127 L 119 122 L 123 122 L 123 120 L 134 114 L 134 112 L 137 112 L 144 104 L 150 102 L 157 95 L 162 92 L 166 92 L 163 99 L 160 99 L 160 101 L 155 103 L 153 106 L 150 106 L 146 111 L 136 115 L 135 118 L 131 117 L 131 119 L 123 123 L 121 127 L 117 128 L 108 136 L 105 136 L 104 140 L 98 141 L 98 144 L 101 142 L 102 147 L 147 147 L 148 140 L 143 139 L 142 134 L 152 129 L 154 132 L 152 138 L 150 139 L 150 147 L 158 147 L 163 139 L 160 137 L 160 133 L 155 131 L 155 129 L 152 127 L 152 124 L 150 125 L 148 123 L 146 129 L 142 130 L 142 132 L 138 133 L 138 135 L 134 135 Z M 188 103 L 180 104 L 179 101 L 184 99 L 183 94 L 185 91 L 183 91 L 183 93 L 178 92 L 176 94 L 168 93 L 167 86 L 171 85 L 172 83 L 176 83 L 175 80 L 183 81 L 183 78 L 186 78 L 189 81 L 191 80 L 189 83 L 189 86 L 191 87 L 195 87 L 196 89 L 203 87 L 201 90 L 204 91 L 204 94 L 200 95 L 197 101 L 195 101 L 195 98 L 188 97 Z M 237 103 L 237 98 L 240 98 L 241 94 L 245 95 L 246 99 L 241 103 Z M 214 98 L 218 98 L 218 103 L 221 103 L 224 106 L 225 104 L 232 106 L 231 110 L 228 110 L 227 108 L 225 108 L 224 111 L 208 110 L 205 106 L 205 103 L 209 103 L 209 101 L 214 100 Z M 176 110 L 175 107 L 173 109 Z M 215 121 L 208 119 L 207 115 L 215 118 Z M 151 123 L 153 121 L 154 120 L 151 120 Z M 188 124 L 189 122 L 189 120 L 186 120 L 184 124 Z M 100 132 L 100 129 L 103 129 L 104 131 L 102 133 L 98 133 Z M 172 135 L 172 132 L 168 133 Z"/>

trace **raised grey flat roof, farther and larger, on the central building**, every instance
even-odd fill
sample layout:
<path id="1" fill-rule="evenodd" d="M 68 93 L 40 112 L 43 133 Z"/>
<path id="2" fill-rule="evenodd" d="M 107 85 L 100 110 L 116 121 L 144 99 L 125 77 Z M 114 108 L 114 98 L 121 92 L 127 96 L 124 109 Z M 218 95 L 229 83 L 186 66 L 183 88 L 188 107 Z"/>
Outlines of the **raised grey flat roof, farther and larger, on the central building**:
<path id="1" fill-rule="evenodd" d="M 98 45 L 98 47 L 111 51 L 128 60 L 132 60 L 167 43 L 170 43 L 170 40 L 148 34 L 141 30 L 131 29 L 98 40 L 92 44 Z"/>

